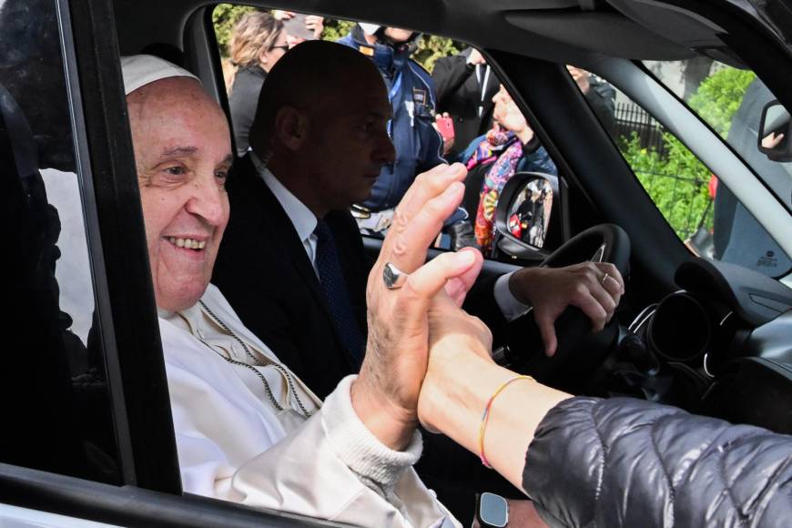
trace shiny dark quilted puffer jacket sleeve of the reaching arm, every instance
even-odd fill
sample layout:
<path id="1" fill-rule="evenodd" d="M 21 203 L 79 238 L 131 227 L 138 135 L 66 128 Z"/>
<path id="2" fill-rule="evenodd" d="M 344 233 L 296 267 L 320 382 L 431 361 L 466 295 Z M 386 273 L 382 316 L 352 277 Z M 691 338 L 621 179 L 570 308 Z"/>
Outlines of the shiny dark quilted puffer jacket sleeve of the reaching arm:
<path id="1" fill-rule="evenodd" d="M 792 523 L 792 436 L 626 398 L 548 412 L 523 489 L 551 526 Z"/>

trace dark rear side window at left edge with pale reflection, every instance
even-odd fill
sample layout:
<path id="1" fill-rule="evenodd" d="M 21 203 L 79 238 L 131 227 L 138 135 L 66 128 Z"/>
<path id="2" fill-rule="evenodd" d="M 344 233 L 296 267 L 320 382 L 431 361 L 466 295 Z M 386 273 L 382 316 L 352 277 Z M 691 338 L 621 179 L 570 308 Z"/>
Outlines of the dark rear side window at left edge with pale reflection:
<path id="1" fill-rule="evenodd" d="M 0 32 L 0 462 L 118 482 L 56 3 L 0 4 Z"/>

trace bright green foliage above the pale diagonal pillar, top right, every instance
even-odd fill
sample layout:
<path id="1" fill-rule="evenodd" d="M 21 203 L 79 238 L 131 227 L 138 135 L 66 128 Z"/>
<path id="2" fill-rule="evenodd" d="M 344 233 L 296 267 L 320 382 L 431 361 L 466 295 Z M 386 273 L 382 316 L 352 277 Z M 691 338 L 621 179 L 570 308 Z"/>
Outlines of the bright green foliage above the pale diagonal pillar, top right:
<path id="1" fill-rule="evenodd" d="M 688 104 L 718 134 L 726 137 L 732 117 L 755 78 L 752 71 L 725 67 L 706 78 Z"/>

